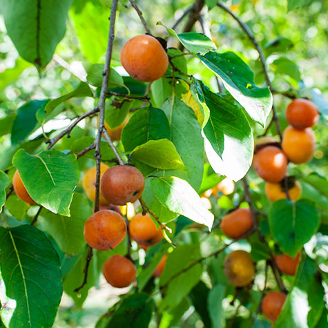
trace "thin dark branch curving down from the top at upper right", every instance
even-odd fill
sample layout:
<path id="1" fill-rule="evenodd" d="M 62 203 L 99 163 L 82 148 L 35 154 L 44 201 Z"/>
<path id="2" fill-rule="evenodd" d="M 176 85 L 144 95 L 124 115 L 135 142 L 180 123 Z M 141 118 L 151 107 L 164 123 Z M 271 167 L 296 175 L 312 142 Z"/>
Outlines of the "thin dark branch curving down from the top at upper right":
<path id="1" fill-rule="evenodd" d="M 233 17 L 233 19 L 235 19 L 235 21 L 237 21 L 237 23 L 239 24 L 239 26 L 242 28 L 242 30 L 244 30 L 244 32 L 247 34 L 247 36 L 249 37 L 249 39 L 251 40 L 251 42 L 253 43 L 253 46 L 255 47 L 255 49 L 258 51 L 258 55 L 260 56 L 260 62 L 262 65 L 262 70 L 264 73 L 264 77 L 265 77 L 265 81 L 267 81 L 267 86 L 269 86 L 270 90 L 273 90 L 273 86 L 271 84 L 270 81 L 270 77 L 269 77 L 269 72 L 267 70 L 267 63 L 265 61 L 265 57 L 264 57 L 264 53 L 262 51 L 262 48 L 260 46 L 260 44 L 258 43 L 258 41 L 255 39 L 255 36 L 253 35 L 253 32 L 251 31 L 251 29 L 243 22 L 241 21 L 228 7 L 226 7 L 222 2 L 218 2 L 217 4 L 218 7 L 222 8 L 224 11 L 226 11 L 229 15 L 231 15 L 231 17 Z M 282 133 L 281 133 L 281 129 L 280 129 L 280 125 L 279 125 L 279 121 L 278 121 L 278 117 L 277 117 L 277 113 L 276 113 L 276 108 L 272 105 L 272 112 L 273 112 L 273 120 L 276 123 L 276 127 L 277 127 L 277 132 L 278 135 L 280 137 L 280 139 L 282 139 Z"/>

